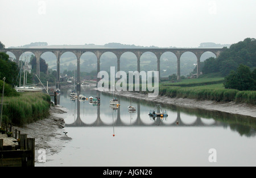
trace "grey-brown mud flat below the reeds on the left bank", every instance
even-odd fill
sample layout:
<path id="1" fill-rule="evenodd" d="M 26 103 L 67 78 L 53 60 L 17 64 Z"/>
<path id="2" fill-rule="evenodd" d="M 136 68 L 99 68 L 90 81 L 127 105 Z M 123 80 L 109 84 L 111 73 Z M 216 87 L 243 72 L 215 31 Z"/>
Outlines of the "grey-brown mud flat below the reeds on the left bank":
<path id="1" fill-rule="evenodd" d="M 53 155 L 61 151 L 64 144 L 72 138 L 64 134 L 65 122 L 61 115 L 67 113 L 67 109 L 61 106 L 51 106 L 49 117 L 23 127 L 14 127 L 20 130 L 20 134 L 27 134 L 28 138 L 35 138 L 35 163 L 38 163 L 38 150 L 44 149 L 47 155 Z M 47 160 L 48 161 L 48 160 Z"/>

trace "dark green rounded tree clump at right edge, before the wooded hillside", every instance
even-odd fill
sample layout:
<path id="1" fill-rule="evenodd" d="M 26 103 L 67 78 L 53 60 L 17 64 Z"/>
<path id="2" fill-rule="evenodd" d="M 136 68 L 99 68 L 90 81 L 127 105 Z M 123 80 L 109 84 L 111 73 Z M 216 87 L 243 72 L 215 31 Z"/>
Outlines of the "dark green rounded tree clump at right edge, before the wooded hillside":
<path id="1" fill-rule="evenodd" d="M 224 80 L 225 88 L 238 90 L 256 90 L 255 70 L 253 73 L 246 65 L 240 64 L 237 71 L 231 71 Z"/>

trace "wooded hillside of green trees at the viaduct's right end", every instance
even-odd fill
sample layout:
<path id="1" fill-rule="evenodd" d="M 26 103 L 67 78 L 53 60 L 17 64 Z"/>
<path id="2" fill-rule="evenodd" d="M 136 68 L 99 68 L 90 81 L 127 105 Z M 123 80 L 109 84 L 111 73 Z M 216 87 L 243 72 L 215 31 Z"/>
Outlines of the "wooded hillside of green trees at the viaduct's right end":
<path id="1" fill-rule="evenodd" d="M 224 49 L 219 57 L 204 61 L 202 72 L 225 77 L 225 88 L 256 90 L 256 40 L 246 38 Z"/>

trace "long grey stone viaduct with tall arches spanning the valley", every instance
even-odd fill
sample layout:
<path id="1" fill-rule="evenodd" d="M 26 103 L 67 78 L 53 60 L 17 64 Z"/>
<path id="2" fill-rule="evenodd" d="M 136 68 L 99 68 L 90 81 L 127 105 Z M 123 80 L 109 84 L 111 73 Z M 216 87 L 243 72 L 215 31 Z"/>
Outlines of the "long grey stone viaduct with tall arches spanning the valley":
<path id="1" fill-rule="evenodd" d="M 60 81 L 60 56 L 64 52 L 72 52 L 77 57 L 77 85 L 80 85 L 80 57 L 85 52 L 92 52 L 97 57 L 97 72 L 100 72 L 100 57 L 105 52 L 112 52 L 117 56 L 117 71 L 120 71 L 120 57 L 125 52 L 132 52 L 137 57 L 137 71 L 141 71 L 140 59 L 144 52 L 152 52 L 157 58 L 157 70 L 160 78 L 160 57 L 164 52 L 172 52 L 177 57 L 177 80 L 180 80 L 180 56 L 185 52 L 192 52 L 197 57 L 197 77 L 200 75 L 200 57 L 204 52 L 212 52 L 218 57 L 224 49 L 221 48 L 6 48 L 0 49 L 0 52 L 11 52 L 16 59 L 24 52 L 32 52 L 36 57 L 36 74 L 40 77 L 40 56 L 44 52 L 52 52 L 57 59 L 57 76 L 56 81 Z"/>

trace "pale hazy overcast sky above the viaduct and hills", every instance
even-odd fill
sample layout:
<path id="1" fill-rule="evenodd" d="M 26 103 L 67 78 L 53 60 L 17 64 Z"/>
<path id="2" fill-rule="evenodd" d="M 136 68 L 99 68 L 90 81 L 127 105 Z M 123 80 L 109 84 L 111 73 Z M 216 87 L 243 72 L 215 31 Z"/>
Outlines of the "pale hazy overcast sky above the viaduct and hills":
<path id="1" fill-rule="evenodd" d="M 255 0 L 0 0 L 0 41 L 198 47 L 256 38 Z"/>

